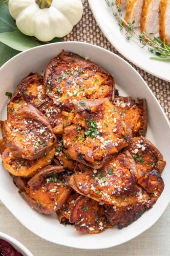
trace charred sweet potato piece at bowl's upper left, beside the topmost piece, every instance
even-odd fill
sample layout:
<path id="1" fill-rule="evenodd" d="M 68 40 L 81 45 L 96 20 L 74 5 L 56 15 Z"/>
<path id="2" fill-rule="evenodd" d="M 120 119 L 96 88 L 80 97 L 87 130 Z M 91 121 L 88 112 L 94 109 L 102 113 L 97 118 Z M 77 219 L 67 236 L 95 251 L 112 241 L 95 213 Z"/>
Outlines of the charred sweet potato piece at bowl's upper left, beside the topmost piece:
<path id="1" fill-rule="evenodd" d="M 43 77 L 40 74 L 30 74 L 21 80 L 7 108 L 8 119 L 27 103 L 38 107 L 46 98 Z"/>

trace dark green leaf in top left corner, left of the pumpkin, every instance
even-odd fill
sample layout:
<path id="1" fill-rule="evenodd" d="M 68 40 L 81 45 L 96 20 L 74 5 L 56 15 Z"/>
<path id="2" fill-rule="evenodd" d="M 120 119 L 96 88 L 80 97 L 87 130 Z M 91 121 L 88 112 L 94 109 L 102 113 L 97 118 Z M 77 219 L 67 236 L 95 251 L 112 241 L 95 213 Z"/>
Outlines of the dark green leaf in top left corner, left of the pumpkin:
<path id="1" fill-rule="evenodd" d="M 9 13 L 7 2 L 0 0 L 0 33 L 14 30 L 18 28 Z"/>

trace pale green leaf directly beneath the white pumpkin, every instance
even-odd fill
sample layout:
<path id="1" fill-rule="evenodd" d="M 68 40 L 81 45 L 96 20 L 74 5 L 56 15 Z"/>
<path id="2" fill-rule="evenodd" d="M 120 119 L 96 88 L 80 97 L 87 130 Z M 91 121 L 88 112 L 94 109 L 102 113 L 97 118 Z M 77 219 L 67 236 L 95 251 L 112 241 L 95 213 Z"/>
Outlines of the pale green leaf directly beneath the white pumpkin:
<path id="1" fill-rule="evenodd" d="M 41 44 L 30 36 L 22 34 L 20 31 L 0 33 L 0 42 L 17 50 L 25 51 Z"/>

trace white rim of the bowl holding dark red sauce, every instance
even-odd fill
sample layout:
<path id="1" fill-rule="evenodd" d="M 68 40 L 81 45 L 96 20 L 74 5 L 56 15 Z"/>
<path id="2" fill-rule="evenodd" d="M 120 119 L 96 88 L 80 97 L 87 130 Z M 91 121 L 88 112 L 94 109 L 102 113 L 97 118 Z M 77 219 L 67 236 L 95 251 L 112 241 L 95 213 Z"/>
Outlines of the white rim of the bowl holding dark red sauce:
<path id="1" fill-rule="evenodd" d="M 0 232 L 0 239 L 9 242 L 17 250 L 17 252 L 21 253 L 23 256 L 33 256 L 32 253 L 28 251 L 28 249 L 23 244 L 21 244 L 12 236 Z"/>

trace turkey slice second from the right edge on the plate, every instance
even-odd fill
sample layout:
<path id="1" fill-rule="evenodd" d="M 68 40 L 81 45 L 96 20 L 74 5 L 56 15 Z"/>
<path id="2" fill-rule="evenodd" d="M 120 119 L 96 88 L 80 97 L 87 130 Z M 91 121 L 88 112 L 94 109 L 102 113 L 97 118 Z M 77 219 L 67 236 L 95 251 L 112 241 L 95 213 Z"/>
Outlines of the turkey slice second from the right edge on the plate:
<path id="1" fill-rule="evenodd" d="M 141 32 L 149 39 L 159 34 L 159 5 L 161 0 L 144 0 L 141 14 Z"/>

